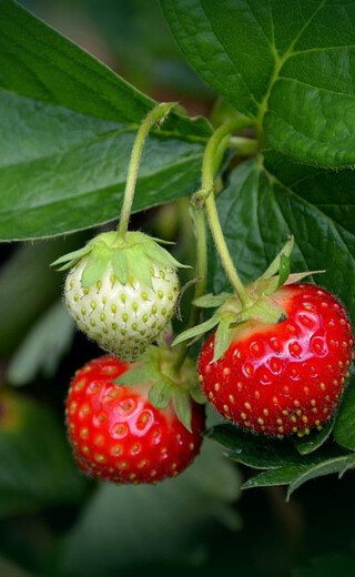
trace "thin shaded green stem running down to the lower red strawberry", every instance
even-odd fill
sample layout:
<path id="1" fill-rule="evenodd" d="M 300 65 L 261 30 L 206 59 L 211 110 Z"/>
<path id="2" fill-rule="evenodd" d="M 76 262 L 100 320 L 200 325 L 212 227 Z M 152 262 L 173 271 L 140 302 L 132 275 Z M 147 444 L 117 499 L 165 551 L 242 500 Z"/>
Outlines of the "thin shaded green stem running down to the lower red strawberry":
<path id="1" fill-rule="evenodd" d="M 206 282 L 207 282 L 207 234 L 206 234 L 206 221 L 204 216 L 204 211 L 199 210 L 196 207 L 192 207 L 193 211 L 193 220 L 195 225 L 195 236 L 196 236 L 196 264 L 195 264 L 195 276 L 199 281 L 195 284 L 194 300 L 202 296 L 205 292 Z M 192 328 L 200 321 L 201 308 L 195 305 L 191 305 L 190 318 L 186 326 L 187 328 Z M 183 343 L 180 345 L 179 352 L 176 354 L 176 358 L 174 365 L 172 366 L 172 374 L 178 374 L 180 368 L 185 362 L 187 356 L 189 345 Z"/>

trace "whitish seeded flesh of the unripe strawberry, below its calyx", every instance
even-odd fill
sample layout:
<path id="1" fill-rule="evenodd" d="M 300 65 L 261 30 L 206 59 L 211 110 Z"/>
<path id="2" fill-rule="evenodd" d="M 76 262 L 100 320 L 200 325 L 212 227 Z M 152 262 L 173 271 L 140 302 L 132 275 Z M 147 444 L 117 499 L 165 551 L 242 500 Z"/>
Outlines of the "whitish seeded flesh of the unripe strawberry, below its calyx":
<path id="1" fill-rule="evenodd" d="M 81 276 L 87 264 L 84 256 L 67 276 L 67 307 L 89 338 L 104 351 L 132 362 L 173 315 L 179 294 L 178 274 L 172 267 L 153 264 L 152 290 L 132 277 L 121 284 L 110 265 L 99 281 L 83 288 Z"/>

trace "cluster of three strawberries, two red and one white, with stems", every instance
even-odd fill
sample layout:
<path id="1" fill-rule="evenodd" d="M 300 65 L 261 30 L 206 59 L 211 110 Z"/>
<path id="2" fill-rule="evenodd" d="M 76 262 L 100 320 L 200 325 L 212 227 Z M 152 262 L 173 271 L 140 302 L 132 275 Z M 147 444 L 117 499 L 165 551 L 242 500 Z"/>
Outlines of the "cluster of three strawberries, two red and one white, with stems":
<path id="1" fill-rule="evenodd" d="M 163 118 L 170 108 L 158 108 L 152 118 Z M 141 130 L 146 135 L 144 123 Z M 213 158 L 226 135 L 225 129 L 214 133 L 205 159 Z M 136 143 L 134 162 L 141 132 Z M 264 274 L 244 287 L 217 221 L 213 170 L 207 168 L 212 181 L 202 179 L 206 190 L 193 206 L 199 212 L 206 204 L 234 291 L 202 294 L 205 234 L 200 227 L 199 236 L 196 225 L 201 280 L 190 326 L 172 346 L 162 338 L 158 346 L 176 308 L 176 271 L 183 265 L 162 241 L 126 230 L 136 163 L 133 169 L 119 231 L 99 234 L 54 263 L 69 269 L 69 313 L 109 353 L 78 371 L 69 389 L 67 425 L 79 468 L 114 483 L 156 483 L 178 475 L 200 451 L 205 399 L 223 417 L 256 434 L 302 437 L 321 429 L 334 417 L 349 376 L 354 343 L 345 308 L 326 290 L 303 282 L 312 273 L 290 274 L 293 237 Z M 199 325 L 199 307 L 216 310 Z M 196 367 L 186 342 L 212 328 Z"/>

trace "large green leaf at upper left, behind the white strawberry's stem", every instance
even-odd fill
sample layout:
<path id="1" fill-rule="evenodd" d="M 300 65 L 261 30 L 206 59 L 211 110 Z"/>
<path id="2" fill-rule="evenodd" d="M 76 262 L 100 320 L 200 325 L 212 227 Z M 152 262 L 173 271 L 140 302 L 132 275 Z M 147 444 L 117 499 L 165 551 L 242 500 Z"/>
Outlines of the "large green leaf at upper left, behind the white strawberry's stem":
<path id="1" fill-rule="evenodd" d="M 11 0 L 0 2 L 0 239 L 116 219 L 135 133 L 154 101 Z M 171 113 L 148 140 L 133 211 L 199 185 L 210 133 L 205 120 Z"/>

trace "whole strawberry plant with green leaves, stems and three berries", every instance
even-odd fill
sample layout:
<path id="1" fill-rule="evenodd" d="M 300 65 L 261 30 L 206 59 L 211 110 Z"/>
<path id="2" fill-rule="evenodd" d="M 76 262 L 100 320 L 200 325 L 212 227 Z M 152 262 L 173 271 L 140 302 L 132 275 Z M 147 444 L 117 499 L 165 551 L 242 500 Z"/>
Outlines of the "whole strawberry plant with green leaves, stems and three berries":
<path id="1" fill-rule="evenodd" d="M 355 3 L 159 4 L 209 113 L 0 2 L 0 519 L 93 495 L 60 576 L 113 575 L 142 539 L 106 556 L 105 519 L 146 533 L 160 499 L 186 512 L 161 558 L 190 563 L 204 523 L 239 525 L 236 464 L 287 499 L 355 468 Z"/>

